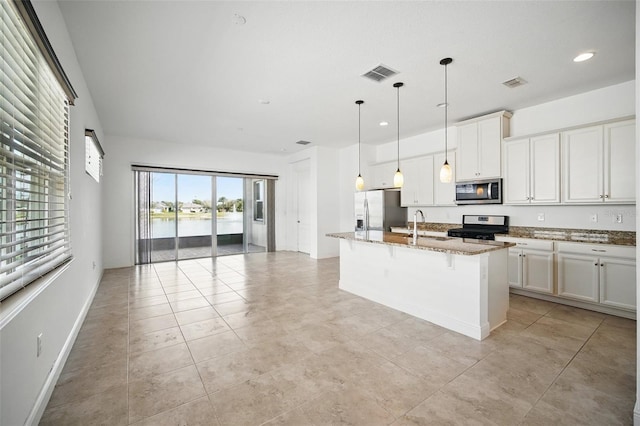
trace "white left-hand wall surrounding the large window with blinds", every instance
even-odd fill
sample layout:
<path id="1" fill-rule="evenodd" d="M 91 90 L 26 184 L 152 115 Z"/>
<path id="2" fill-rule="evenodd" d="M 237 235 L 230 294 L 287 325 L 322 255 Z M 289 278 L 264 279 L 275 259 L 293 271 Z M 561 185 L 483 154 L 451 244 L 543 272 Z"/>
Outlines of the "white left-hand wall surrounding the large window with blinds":
<path id="1" fill-rule="evenodd" d="M 77 326 L 100 281 L 102 265 L 101 193 L 84 171 L 84 129 L 102 133 L 91 95 L 78 65 L 66 25 L 56 2 L 34 2 L 47 36 L 78 93 L 70 112 L 71 243 L 74 260 L 59 276 L 33 284 L 3 302 L 0 314 L 0 424 L 37 423 L 60 374 Z M 93 266 L 95 262 L 95 267 Z M 37 291 L 35 291 L 37 290 Z M 26 296 L 30 294 L 32 299 Z M 24 306 L 20 307 L 21 303 Z M 36 357 L 36 336 L 42 333 L 42 354 Z"/>

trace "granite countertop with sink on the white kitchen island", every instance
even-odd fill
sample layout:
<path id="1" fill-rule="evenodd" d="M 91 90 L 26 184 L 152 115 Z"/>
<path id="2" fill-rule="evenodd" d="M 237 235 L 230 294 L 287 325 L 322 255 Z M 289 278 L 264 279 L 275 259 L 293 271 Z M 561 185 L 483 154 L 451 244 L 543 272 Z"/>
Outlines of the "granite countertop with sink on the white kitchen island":
<path id="1" fill-rule="evenodd" d="M 359 231 L 327 234 L 327 237 L 344 240 L 362 241 L 374 244 L 407 247 L 418 250 L 436 251 L 441 253 L 461 254 L 473 256 L 490 251 L 501 250 L 515 246 L 514 243 L 503 241 L 482 241 L 467 238 L 429 237 L 420 236 L 416 245 L 412 237 L 393 232 Z"/>

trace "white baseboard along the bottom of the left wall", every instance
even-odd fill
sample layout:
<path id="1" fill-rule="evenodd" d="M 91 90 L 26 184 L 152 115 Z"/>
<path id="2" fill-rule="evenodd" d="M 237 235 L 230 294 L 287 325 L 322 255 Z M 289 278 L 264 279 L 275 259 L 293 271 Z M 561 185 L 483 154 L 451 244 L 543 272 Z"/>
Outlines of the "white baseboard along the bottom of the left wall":
<path id="1" fill-rule="evenodd" d="M 84 323 L 84 319 L 86 318 L 87 313 L 89 312 L 89 308 L 91 307 L 93 298 L 95 297 L 96 292 L 98 291 L 98 286 L 100 285 L 100 281 L 102 281 L 103 273 L 104 273 L 104 270 L 100 274 L 98 281 L 93 286 L 93 289 L 91 290 L 91 295 L 85 302 L 84 306 L 82 307 L 82 310 L 80 311 L 80 315 L 78 315 L 78 318 L 76 318 L 76 322 L 73 324 L 73 328 L 71 329 L 71 332 L 69 333 L 69 336 L 67 337 L 67 340 L 65 341 L 64 346 L 62 347 L 62 350 L 58 355 L 58 358 L 56 358 L 56 361 L 53 364 L 53 367 L 51 367 L 51 371 L 49 372 L 49 375 L 47 376 L 47 379 L 45 380 L 44 385 L 42 386 L 42 389 L 38 394 L 38 398 L 36 398 L 36 402 L 33 405 L 31 412 L 29 413 L 29 416 L 27 417 L 27 420 L 24 423 L 25 425 L 37 426 L 38 423 L 40 423 L 40 419 L 44 414 L 44 410 L 47 408 L 47 404 L 49 403 L 51 394 L 53 393 L 53 390 L 56 387 L 56 383 L 60 378 L 60 374 L 62 373 L 64 364 L 67 362 L 67 358 L 71 353 L 71 348 L 73 347 L 73 344 L 75 343 L 76 338 L 78 337 L 78 333 L 80 332 L 80 328 Z"/>

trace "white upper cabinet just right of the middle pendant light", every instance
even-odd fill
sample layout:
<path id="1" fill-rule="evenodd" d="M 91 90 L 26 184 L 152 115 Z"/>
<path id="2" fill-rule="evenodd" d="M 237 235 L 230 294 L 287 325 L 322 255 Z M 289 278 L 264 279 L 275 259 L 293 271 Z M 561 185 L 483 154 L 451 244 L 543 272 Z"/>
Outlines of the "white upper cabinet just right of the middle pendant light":
<path id="1" fill-rule="evenodd" d="M 433 156 L 424 156 L 402 162 L 404 185 L 400 190 L 403 207 L 433 205 Z"/>

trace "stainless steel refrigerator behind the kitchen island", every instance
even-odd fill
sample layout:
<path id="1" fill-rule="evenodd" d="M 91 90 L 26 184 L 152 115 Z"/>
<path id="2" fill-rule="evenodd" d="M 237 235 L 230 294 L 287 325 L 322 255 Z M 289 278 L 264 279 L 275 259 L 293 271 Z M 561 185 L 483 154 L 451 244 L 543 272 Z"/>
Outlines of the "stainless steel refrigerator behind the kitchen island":
<path id="1" fill-rule="evenodd" d="M 356 192 L 355 230 L 391 231 L 392 226 L 407 226 L 407 208 L 400 207 L 399 189 Z"/>

